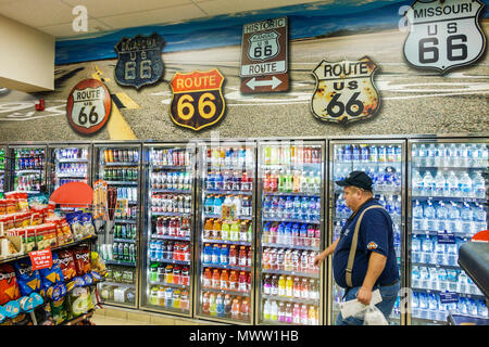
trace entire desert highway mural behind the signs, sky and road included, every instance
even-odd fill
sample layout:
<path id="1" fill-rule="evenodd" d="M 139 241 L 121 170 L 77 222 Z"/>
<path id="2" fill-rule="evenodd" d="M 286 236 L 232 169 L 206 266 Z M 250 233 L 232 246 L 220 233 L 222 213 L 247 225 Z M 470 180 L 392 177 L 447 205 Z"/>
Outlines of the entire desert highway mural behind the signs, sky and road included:
<path id="1" fill-rule="evenodd" d="M 444 1 L 447 5 L 451 2 Z M 437 26 L 438 44 L 430 36 L 411 38 L 409 16 L 414 12 L 408 10 L 413 3 L 414 0 L 328 1 L 59 39 L 55 90 L 28 95 L 18 92 L 0 95 L 0 139 L 86 140 L 86 136 L 78 134 L 66 121 L 66 100 L 74 86 L 88 78 L 103 82 L 112 99 L 106 125 L 89 137 L 95 141 L 210 138 L 214 130 L 218 130 L 222 138 L 488 131 L 489 61 L 486 44 L 478 57 L 471 59 L 472 47 L 480 49 L 480 44 L 472 42 L 468 31 L 465 31 L 468 27 L 462 24 L 456 24 L 454 35 L 465 35 L 467 41 L 448 39 L 451 35 L 448 30 L 455 28 L 450 24 L 451 18 Z M 474 11 L 476 2 L 472 3 Z M 484 3 L 485 8 L 477 12 L 476 27 L 484 33 L 485 39 L 489 28 L 489 0 Z M 405 17 L 404 13 L 408 13 Z M 426 13 L 430 12 L 427 10 Z M 288 24 L 288 90 L 242 92 L 243 26 L 280 17 L 287 17 Z M 429 29 L 429 33 L 435 33 L 435 26 Z M 115 77 L 118 59 L 114 47 L 123 38 L 152 34 L 165 42 L 160 54 L 164 62 L 162 77 L 140 89 L 120 85 Z M 440 60 L 451 52 L 451 57 L 462 61 L 465 55 L 463 47 L 466 47 L 467 57 L 463 63 L 469 65 L 454 66 L 456 68 L 443 73 L 418 68 L 410 62 L 411 50 L 408 56 L 404 51 L 404 42 L 410 46 L 413 38 L 413 44 L 421 47 L 425 62 L 434 60 L 435 51 L 438 51 Z M 426 38 L 430 40 L 422 41 L 419 46 L 419 41 Z M 419 56 L 419 52 L 412 54 Z M 379 67 L 373 82 L 381 107 L 375 116 L 360 121 L 319 120 L 311 107 L 316 91 L 313 70 L 323 61 L 353 62 L 362 56 L 368 56 Z M 177 126 L 171 118 L 172 79 L 177 73 L 185 75 L 213 69 L 218 69 L 225 79 L 222 94 L 225 95 L 223 108 L 226 116 L 198 132 Z M 263 77 L 256 77 L 255 81 L 260 78 Z M 353 94 L 348 100 L 342 100 L 346 95 L 338 97 L 338 101 L 347 106 Z M 42 112 L 34 107 L 38 99 L 45 99 Z M 193 98 L 191 105 L 196 110 L 199 108 L 198 102 L 199 98 Z M 204 114 L 210 112 L 209 107 L 204 108 Z M 338 110 L 333 107 L 334 113 Z M 358 110 L 353 106 L 352 114 Z M 190 108 L 183 107 L 181 111 L 185 117 Z"/>

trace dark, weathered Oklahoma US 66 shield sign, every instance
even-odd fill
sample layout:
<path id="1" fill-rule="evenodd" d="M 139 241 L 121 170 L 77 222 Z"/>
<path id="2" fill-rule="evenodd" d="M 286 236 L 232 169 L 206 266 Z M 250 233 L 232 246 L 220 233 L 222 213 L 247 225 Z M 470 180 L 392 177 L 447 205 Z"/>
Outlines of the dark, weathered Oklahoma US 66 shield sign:
<path id="1" fill-rule="evenodd" d="M 116 46 L 118 55 L 115 80 L 136 89 L 156 82 L 163 76 L 161 50 L 164 41 L 158 34 L 123 38 Z"/>

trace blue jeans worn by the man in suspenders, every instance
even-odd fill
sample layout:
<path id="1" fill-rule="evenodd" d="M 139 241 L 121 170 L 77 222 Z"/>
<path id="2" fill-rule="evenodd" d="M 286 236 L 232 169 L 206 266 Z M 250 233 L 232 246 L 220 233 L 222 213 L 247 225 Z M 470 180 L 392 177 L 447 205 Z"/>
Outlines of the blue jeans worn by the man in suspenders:
<path id="1" fill-rule="evenodd" d="M 377 288 L 380 290 L 380 296 L 383 297 L 383 300 L 375 306 L 384 313 L 386 320 L 389 321 L 389 316 L 392 312 L 392 308 L 396 304 L 396 299 L 398 298 L 398 294 L 401 288 L 401 281 L 398 281 L 398 283 L 389 286 L 374 285 L 372 292 L 374 292 Z M 359 295 L 359 291 L 360 286 L 355 286 L 348 290 L 348 292 L 343 297 L 343 300 L 348 301 L 355 299 L 356 295 Z M 350 316 L 347 319 L 343 319 L 341 317 L 341 312 L 339 312 L 338 318 L 336 320 L 336 325 L 363 325 L 363 320 L 354 318 L 352 316 Z"/>

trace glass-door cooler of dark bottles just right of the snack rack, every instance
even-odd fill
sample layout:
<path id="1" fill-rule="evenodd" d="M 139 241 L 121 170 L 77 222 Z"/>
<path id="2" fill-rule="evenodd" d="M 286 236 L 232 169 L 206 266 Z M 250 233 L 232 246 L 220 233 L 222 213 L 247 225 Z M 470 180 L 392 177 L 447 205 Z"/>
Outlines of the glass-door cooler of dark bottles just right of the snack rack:
<path id="1" fill-rule="evenodd" d="M 105 181 L 116 195 L 113 218 L 97 241 L 109 270 L 99 293 L 105 304 L 121 307 L 138 307 L 140 164 L 139 143 L 93 144 L 93 183 Z"/>

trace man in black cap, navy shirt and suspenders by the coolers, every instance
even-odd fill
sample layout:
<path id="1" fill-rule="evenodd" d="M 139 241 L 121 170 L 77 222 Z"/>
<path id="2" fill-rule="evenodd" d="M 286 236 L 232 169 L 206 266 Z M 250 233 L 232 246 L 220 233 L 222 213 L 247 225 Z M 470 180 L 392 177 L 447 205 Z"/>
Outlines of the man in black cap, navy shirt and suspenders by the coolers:
<path id="1" fill-rule="evenodd" d="M 333 254 L 335 282 L 346 288 L 343 297 L 346 301 L 356 298 L 360 303 L 369 305 L 372 292 L 379 288 L 383 301 L 376 306 L 388 320 L 400 290 L 392 220 L 387 210 L 373 197 L 372 179 L 365 172 L 352 171 L 344 180 L 336 183 L 343 187 L 346 204 L 353 214 L 342 228 L 340 237 L 315 258 L 315 264 L 319 265 Z M 375 208 L 368 208 L 373 206 Z M 364 210 L 348 285 L 347 267 L 354 229 Z M 363 320 L 354 317 L 343 319 L 340 312 L 336 324 L 361 325 Z"/>

